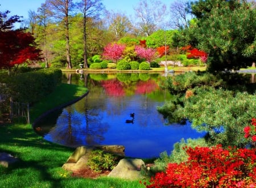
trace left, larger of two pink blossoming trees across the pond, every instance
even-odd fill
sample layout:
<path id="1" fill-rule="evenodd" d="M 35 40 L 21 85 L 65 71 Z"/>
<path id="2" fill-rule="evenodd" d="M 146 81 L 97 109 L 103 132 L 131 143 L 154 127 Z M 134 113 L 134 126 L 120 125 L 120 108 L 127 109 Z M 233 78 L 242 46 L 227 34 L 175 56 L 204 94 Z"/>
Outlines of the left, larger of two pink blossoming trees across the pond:
<path id="1" fill-rule="evenodd" d="M 125 50 L 126 46 L 124 44 L 110 43 L 105 46 L 104 52 L 102 56 L 105 59 L 112 59 L 117 63 L 118 59 L 121 59 L 123 50 Z"/>

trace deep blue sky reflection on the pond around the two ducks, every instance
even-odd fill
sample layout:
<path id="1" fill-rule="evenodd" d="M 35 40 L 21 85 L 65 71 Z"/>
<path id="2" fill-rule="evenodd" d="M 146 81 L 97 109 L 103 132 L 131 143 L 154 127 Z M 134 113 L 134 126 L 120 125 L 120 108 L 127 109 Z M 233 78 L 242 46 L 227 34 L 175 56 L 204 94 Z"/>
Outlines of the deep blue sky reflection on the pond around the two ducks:
<path id="1" fill-rule="evenodd" d="M 162 114 L 156 110 L 164 101 L 156 102 L 147 95 L 107 96 L 102 95 L 104 89 L 93 87 L 89 91 L 87 97 L 63 110 L 45 139 L 73 147 L 119 144 L 125 146 L 126 156 L 158 157 L 163 151 L 170 153 L 181 138 L 203 136 L 189 123 L 164 125 Z M 76 110 L 77 106 L 84 112 Z M 126 123 L 126 119 L 132 119 L 130 113 L 135 113 L 134 123 Z"/>

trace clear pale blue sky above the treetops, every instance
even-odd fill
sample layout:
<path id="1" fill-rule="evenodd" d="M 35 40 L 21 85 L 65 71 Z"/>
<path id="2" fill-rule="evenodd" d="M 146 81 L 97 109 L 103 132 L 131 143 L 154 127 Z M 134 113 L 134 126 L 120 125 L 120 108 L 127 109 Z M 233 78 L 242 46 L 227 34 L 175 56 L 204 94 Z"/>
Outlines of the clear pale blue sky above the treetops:
<path id="1" fill-rule="evenodd" d="M 74 0 L 80 1 L 80 0 Z M 167 5 L 167 8 L 170 6 L 171 2 L 174 0 L 160 0 Z M 28 11 L 35 11 L 40 7 L 42 3 L 46 2 L 45 0 L 1 0 L 0 1 L 0 11 L 9 10 L 11 15 L 23 16 L 24 19 L 28 17 Z M 138 5 L 139 0 L 102 0 L 102 3 L 105 5 L 106 9 L 114 12 L 123 12 L 127 16 L 134 14 L 133 7 Z"/>

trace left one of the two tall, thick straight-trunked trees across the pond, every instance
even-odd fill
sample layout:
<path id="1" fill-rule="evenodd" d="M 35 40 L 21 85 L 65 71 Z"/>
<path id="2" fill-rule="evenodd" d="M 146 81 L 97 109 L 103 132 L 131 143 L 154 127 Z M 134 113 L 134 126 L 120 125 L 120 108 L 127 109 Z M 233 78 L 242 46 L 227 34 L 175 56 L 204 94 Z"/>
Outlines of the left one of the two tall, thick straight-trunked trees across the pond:
<path id="1" fill-rule="evenodd" d="M 46 0 L 46 4 L 49 6 L 49 10 L 52 11 L 52 16 L 63 23 L 66 41 L 67 68 L 72 69 L 69 45 L 69 16 L 74 8 L 74 4 L 72 0 Z"/>

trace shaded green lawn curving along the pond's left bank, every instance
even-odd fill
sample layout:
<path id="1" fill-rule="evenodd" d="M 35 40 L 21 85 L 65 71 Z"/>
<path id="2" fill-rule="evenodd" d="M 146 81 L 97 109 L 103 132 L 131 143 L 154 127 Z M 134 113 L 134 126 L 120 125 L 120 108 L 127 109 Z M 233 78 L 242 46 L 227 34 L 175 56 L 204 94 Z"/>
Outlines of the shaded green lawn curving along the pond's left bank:
<path id="1" fill-rule="evenodd" d="M 31 107 L 31 119 L 86 93 L 86 88 L 61 84 L 44 100 Z M 0 165 L 0 187 L 144 187 L 138 181 L 101 177 L 96 180 L 71 177 L 61 166 L 74 149 L 49 143 L 34 133 L 31 125 L 0 125 L 0 152 L 18 162 Z"/>

